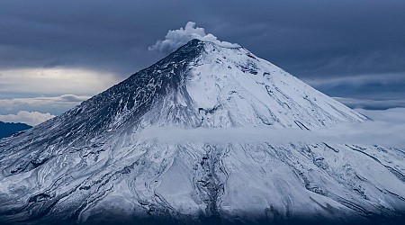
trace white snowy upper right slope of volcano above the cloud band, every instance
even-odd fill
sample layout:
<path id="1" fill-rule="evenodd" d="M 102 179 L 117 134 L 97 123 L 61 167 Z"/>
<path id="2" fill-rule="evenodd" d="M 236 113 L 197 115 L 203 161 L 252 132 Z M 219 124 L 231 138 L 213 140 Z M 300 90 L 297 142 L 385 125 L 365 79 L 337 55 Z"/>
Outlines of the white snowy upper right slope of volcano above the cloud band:
<path id="1" fill-rule="evenodd" d="M 159 126 L 193 118 L 197 120 L 187 121 L 184 127 L 311 129 L 365 120 L 247 49 L 224 48 L 212 42 L 204 44 L 178 90 L 169 96 L 163 102 L 164 112 L 154 118 Z M 153 122 L 143 123 L 150 124 Z"/>

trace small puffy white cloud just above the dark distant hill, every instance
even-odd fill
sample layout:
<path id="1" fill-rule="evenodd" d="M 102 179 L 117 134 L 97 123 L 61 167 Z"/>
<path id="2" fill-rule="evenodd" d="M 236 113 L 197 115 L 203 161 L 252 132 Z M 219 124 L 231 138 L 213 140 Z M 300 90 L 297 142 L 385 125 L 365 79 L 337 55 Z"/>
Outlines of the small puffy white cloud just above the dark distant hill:
<path id="1" fill-rule="evenodd" d="M 50 113 L 20 111 L 17 112 L 17 114 L 0 115 L 0 121 L 23 122 L 31 126 L 36 126 L 41 122 L 52 119 L 53 117 L 55 117 L 55 115 Z"/>

